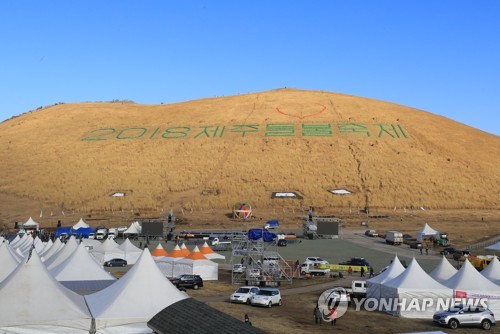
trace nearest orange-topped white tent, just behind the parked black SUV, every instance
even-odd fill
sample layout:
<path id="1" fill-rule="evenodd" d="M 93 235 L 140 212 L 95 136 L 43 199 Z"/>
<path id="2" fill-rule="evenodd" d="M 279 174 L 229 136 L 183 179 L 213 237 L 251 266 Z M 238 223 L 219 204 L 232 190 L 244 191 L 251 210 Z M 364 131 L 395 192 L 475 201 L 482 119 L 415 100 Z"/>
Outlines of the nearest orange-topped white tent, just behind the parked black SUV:
<path id="1" fill-rule="evenodd" d="M 196 246 L 188 256 L 175 261 L 173 264 L 173 276 L 182 274 L 194 274 L 200 275 L 201 278 L 206 281 L 217 280 L 219 278 L 219 265 L 203 256 L 198 246 Z"/>

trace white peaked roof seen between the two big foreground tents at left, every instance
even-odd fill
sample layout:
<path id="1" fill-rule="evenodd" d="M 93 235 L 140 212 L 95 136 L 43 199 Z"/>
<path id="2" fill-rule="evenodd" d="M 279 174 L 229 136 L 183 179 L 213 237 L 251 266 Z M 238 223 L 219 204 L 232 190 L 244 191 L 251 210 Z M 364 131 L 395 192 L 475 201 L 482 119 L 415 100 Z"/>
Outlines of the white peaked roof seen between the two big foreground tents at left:
<path id="1" fill-rule="evenodd" d="M 115 280 L 89 254 L 84 244 L 80 244 L 71 256 L 49 271 L 60 282 Z"/>

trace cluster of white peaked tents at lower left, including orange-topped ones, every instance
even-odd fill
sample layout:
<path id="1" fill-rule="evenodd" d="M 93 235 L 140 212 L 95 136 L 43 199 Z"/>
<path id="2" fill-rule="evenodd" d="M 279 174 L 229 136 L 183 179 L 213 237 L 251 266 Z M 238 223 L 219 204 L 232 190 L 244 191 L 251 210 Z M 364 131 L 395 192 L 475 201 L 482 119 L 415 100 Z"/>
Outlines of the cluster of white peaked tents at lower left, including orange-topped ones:
<path id="1" fill-rule="evenodd" d="M 169 254 L 159 244 L 151 253 L 147 248 L 139 250 L 135 264 L 117 280 L 91 255 L 88 244 L 74 237 L 59 246 L 57 239 L 46 252 L 41 249 L 43 255 L 36 251 L 36 238 L 22 239 L 31 239 L 32 245 L 24 257 L 12 243 L 0 240 L 0 332 L 151 333 L 150 319 L 188 298 L 157 263 L 168 258 L 206 260 L 198 247 L 184 256 L 186 251 L 179 246 Z M 101 246 L 112 243 L 108 239 Z M 128 243 L 127 239 L 119 246 Z M 56 248 L 59 251 L 51 255 L 49 251 Z M 208 256 L 218 257 L 208 245 L 201 248 Z"/>

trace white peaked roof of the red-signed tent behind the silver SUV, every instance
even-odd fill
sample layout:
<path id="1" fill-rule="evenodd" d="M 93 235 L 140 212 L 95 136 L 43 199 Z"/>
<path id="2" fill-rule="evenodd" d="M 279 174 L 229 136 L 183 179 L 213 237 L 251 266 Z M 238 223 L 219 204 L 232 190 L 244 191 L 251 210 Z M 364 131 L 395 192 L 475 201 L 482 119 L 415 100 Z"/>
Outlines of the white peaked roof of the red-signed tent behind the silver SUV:
<path id="1" fill-rule="evenodd" d="M 455 290 L 500 292 L 500 287 L 481 275 L 469 261 L 464 261 L 462 268 L 443 284 Z"/>

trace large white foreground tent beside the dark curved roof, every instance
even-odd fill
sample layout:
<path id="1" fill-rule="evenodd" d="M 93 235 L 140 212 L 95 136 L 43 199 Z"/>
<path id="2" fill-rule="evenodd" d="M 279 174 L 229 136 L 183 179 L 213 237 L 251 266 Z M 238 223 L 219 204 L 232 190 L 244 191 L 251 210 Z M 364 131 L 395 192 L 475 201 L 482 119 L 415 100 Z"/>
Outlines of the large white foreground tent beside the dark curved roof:
<path id="1" fill-rule="evenodd" d="M 85 296 L 97 332 L 102 334 L 151 333 L 146 323 L 165 307 L 185 298 L 188 296 L 158 270 L 147 248 L 122 278 Z"/>

